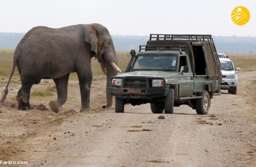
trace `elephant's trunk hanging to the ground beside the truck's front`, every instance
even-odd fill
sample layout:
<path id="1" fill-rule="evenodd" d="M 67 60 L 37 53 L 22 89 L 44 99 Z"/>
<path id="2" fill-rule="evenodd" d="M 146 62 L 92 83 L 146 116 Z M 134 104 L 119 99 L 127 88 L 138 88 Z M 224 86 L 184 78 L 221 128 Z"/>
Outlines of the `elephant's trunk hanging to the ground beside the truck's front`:
<path id="1" fill-rule="evenodd" d="M 104 105 L 102 108 L 108 108 L 112 106 L 113 96 L 109 94 L 108 88 L 110 87 L 110 78 L 117 75 L 117 70 L 113 68 L 113 66 L 111 65 L 111 62 L 105 62 L 105 66 L 107 71 L 107 85 L 106 85 L 107 105 Z"/>

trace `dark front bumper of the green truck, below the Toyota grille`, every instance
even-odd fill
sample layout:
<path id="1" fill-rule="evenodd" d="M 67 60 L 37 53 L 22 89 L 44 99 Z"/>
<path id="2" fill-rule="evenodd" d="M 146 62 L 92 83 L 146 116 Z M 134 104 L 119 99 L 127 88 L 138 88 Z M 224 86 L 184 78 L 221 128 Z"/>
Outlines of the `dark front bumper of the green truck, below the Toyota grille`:
<path id="1" fill-rule="evenodd" d="M 108 88 L 112 96 L 122 99 L 154 99 L 167 96 L 169 89 L 164 88 Z"/>

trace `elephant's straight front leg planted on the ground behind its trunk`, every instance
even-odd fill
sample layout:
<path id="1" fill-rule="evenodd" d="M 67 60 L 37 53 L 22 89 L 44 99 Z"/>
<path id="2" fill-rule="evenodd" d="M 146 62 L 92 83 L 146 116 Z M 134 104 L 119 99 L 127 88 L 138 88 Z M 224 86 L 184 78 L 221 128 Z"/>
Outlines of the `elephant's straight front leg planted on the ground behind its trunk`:
<path id="1" fill-rule="evenodd" d="M 78 73 L 80 93 L 81 93 L 81 104 L 82 107 L 80 112 L 84 112 L 90 108 L 90 91 L 92 83 L 92 71 L 91 68 L 88 72 L 84 72 L 84 75 Z"/>

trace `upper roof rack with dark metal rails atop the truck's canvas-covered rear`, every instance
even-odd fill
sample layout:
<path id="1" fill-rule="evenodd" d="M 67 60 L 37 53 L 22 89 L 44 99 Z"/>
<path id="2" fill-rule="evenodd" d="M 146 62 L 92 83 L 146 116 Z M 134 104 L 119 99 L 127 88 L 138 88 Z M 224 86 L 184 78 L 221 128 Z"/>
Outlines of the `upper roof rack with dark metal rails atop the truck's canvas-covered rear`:
<path id="1" fill-rule="evenodd" d="M 210 41 L 212 41 L 212 35 L 198 35 L 198 34 L 184 34 L 184 35 L 177 35 L 177 34 L 150 34 L 150 38 L 149 40 L 152 39 L 186 39 L 186 40 L 198 40 L 198 39 L 210 39 Z"/>

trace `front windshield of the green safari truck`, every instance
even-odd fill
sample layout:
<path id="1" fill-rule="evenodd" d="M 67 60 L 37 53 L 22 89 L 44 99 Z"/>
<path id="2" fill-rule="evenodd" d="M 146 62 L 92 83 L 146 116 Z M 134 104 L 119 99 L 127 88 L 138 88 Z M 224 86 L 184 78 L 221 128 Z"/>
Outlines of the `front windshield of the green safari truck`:
<path id="1" fill-rule="evenodd" d="M 176 54 L 146 54 L 138 55 L 132 70 L 172 70 L 176 71 Z"/>

